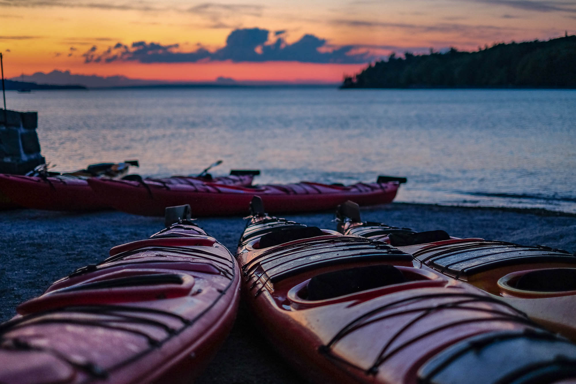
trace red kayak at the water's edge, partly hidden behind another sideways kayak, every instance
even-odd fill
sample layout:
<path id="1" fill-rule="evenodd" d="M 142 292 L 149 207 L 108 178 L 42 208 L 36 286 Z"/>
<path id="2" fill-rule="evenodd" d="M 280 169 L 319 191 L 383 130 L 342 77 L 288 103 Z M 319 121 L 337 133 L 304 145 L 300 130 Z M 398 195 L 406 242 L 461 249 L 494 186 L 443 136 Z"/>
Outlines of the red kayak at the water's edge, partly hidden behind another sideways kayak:
<path id="1" fill-rule="evenodd" d="M 125 177 L 142 180 L 138 175 Z M 202 185 L 204 182 L 246 186 L 251 185 L 253 177 L 253 173 L 238 173 L 217 178 L 212 178 L 211 176 L 172 176 L 164 179 L 144 180 L 146 183 L 158 183 L 166 186 L 193 186 Z M 91 178 L 77 174 L 58 174 L 53 176 L 0 174 L 0 191 L 10 198 L 11 201 L 25 208 L 66 211 L 93 211 L 111 208 L 108 199 L 102 198 L 90 188 L 88 180 Z M 111 180 L 107 176 L 103 176 L 102 179 L 104 178 Z M 100 178 L 97 177 L 96 179 Z"/>

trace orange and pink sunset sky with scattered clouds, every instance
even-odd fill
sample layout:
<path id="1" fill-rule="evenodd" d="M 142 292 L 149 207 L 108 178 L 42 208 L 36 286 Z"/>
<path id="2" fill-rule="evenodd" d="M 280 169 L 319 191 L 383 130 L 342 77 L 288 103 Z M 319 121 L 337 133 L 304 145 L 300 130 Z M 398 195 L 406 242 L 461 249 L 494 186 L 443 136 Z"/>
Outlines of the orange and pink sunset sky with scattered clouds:
<path id="1" fill-rule="evenodd" d="M 338 82 L 391 52 L 576 33 L 574 0 L 0 0 L 5 76 Z"/>

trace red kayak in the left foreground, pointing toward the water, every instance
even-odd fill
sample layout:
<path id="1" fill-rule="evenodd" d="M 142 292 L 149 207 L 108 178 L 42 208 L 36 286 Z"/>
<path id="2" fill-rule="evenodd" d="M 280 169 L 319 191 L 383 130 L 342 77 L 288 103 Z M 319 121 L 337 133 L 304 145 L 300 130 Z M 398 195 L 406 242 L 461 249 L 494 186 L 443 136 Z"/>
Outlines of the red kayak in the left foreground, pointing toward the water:
<path id="1" fill-rule="evenodd" d="M 20 304 L 0 325 L 0 382 L 190 383 L 232 327 L 240 278 L 222 244 L 173 217 Z"/>

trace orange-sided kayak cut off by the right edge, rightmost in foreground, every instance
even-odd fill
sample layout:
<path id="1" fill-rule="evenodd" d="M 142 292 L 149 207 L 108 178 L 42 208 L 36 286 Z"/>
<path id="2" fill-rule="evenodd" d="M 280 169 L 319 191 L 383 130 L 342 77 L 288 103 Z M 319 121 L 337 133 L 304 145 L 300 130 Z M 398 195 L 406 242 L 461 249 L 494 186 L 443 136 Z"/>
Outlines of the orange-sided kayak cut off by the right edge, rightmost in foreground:
<path id="1" fill-rule="evenodd" d="M 541 245 L 459 239 L 445 231 L 363 223 L 359 212 L 353 202 L 340 206 L 338 231 L 389 243 L 414 255 L 415 263 L 475 285 L 576 341 L 576 255 Z"/>

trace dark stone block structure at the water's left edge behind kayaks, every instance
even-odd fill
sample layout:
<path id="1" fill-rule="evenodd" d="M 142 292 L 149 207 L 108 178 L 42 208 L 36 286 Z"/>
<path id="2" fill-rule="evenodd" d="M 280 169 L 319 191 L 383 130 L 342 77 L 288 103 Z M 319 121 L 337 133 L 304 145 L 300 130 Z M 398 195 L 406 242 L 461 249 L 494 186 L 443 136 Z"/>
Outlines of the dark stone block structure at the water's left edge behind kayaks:
<path id="1" fill-rule="evenodd" d="M 0 173 L 25 174 L 44 164 L 37 127 L 38 112 L 0 109 Z"/>

